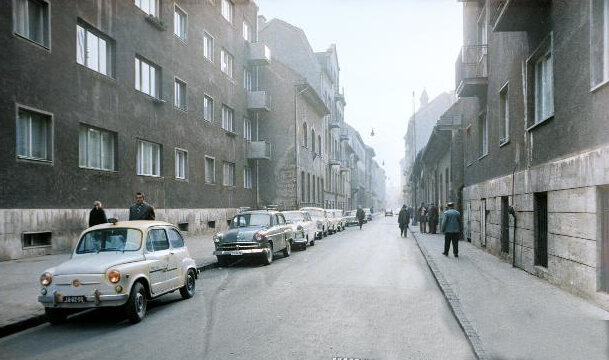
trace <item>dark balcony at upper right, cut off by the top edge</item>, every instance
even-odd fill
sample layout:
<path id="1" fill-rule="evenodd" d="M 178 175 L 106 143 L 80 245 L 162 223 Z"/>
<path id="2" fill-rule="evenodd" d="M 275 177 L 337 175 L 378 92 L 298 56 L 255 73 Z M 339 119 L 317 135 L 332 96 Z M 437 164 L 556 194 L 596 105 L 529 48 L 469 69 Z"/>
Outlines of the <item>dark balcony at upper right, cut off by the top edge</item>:
<path id="1" fill-rule="evenodd" d="M 529 31 L 548 16 L 550 0 L 491 0 L 493 30 Z"/>

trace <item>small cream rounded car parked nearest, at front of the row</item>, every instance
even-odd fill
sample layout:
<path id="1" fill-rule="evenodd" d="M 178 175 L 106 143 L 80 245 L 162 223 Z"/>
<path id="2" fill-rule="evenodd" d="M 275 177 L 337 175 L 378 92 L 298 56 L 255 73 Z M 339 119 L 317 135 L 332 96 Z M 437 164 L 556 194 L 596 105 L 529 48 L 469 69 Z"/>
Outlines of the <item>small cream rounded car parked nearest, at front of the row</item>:
<path id="1" fill-rule="evenodd" d="M 172 224 L 113 221 L 85 230 L 70 259 L 42 273 L 38 301 L 54 325 L 75 310 L 99 307 L 122 307 L 137 323 L 150 299 L 175 290 L 191 298 L 197 276 Z"/>

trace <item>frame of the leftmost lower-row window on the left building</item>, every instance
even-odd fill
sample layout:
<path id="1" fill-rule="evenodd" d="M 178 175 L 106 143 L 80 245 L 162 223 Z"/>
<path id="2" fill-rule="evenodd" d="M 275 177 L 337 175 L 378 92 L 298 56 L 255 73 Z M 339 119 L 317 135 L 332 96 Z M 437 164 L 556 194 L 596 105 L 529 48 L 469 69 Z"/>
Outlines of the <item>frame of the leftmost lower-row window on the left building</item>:
<path id="1" fill-rule="evenodd" d="M 27 113 L 30 113 L 30 117 L 29 117 L 29 126 L 28 126 L 28 141 L 26 143 L 26 147 L 27 147 L 27 152 L 28 154 L 20 154 L 19 153 L 19 137 L 20 137 L 20 133 L 19 133 L 19 129 L 20 129 L 20 113 L 21 111 L 25 111 Z M 31 113 L 34 113 L 38 116 L 41 117 L 45 117 L 46 120 L 46 126 L 45 126 L 45 138 L 46 138 L 46 143 L 45 143 L 45 149 L 44 149 L 44 153 L 45 153 L 45 157 L 37 157 L 37 156 L 33 156 L 33 149 L 32 149 L 32 118 L 31 118 Z M 25 105 L 21 105 L 21 104 L 16 104 L 15 107 L 15 157 L 17 160 L 19 161 L 31 161 L 31 162 L 38 162 L 38 163 L 47 163 L 47 164 L 53 164 L 53 161 L 55 159 L 55 118 L 53 113 L 47 112 L 47 111 L 42 111 L 33 107 L 29 107 L 29 106 L 25 106 Z"/>

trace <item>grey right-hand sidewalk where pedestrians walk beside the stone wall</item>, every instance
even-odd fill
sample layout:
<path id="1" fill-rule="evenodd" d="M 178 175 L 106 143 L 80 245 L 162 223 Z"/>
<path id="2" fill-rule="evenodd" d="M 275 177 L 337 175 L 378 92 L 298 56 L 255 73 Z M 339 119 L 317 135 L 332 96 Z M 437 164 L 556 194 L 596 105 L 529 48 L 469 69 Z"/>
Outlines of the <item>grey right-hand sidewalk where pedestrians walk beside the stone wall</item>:
<path id="1" fill-rule="evenodd" d="M 444 235 L 410 229 L 479 359 L 609 359 L 609 312 L 470 243 L 446 257 Z"/>

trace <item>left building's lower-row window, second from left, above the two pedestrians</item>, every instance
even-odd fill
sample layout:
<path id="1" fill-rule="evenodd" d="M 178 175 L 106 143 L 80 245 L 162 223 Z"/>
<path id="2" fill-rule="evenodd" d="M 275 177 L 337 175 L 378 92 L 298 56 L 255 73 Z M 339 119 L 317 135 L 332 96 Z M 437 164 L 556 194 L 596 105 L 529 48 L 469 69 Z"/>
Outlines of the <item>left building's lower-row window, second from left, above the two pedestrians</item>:
<path id="1" fill-rule="evenodd" d="M 79 166 L 97 170 L 116 170 L 116 134 L 81 125 L 79 130 Z"/>

